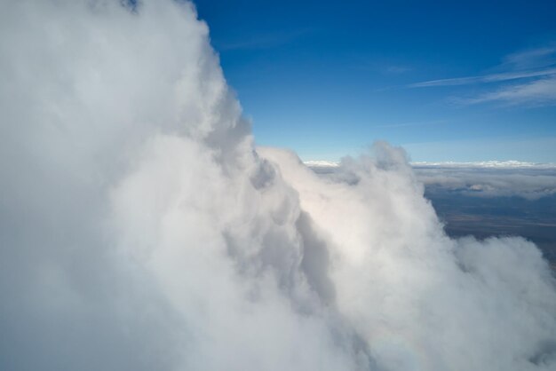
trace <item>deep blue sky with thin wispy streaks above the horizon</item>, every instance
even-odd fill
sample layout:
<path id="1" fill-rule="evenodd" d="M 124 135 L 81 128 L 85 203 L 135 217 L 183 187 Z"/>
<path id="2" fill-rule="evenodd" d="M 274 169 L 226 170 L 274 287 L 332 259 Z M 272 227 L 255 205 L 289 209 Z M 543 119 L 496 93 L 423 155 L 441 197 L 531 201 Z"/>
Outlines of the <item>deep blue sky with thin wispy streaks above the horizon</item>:
<path id="1" fill-rule="evenodd" d="M 556 2 L 198 0 L 258 145 L 556 162 Z"/>

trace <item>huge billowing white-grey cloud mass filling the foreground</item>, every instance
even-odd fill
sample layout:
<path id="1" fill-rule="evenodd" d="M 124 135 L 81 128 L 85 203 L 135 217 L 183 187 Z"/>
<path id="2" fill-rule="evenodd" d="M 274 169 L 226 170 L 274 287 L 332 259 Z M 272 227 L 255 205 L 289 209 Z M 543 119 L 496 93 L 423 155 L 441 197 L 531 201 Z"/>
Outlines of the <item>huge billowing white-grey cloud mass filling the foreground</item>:
<path id="1" fill-rule="evenodd" d="M 256 149 L 192 4 L 0 3 L 0 369 L 556 368 L 536 246 Z"/>

